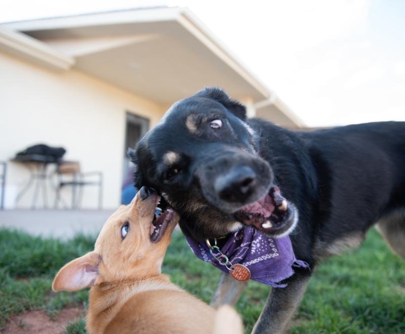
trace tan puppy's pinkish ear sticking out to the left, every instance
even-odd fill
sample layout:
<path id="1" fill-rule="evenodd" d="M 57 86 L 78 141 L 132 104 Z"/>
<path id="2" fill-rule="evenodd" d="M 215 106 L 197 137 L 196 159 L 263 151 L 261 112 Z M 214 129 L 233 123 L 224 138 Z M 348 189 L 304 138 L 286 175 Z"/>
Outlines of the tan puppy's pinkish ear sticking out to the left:
<path id="1" fill-rule="evenodd" d="M 99 276 L 98 266 L 100 262 L 101 257 L 96 252 L 87 253 L 70 261 L 56 274 L 52 283 L 52 290 L 78 291 L 94 285 Z"/>

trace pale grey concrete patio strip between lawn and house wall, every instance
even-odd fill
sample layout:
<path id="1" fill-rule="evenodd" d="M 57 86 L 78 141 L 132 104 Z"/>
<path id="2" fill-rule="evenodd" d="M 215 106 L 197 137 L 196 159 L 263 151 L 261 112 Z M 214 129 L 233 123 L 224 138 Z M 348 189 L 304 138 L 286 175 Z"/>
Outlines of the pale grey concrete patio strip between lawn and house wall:
<path id="1" fill-rule="evenodd" d="M 77 233 L 97 235 L 114 210 L 5 210 L 0 228 L 14 228 L 32 235 L 68 239 Z"/>

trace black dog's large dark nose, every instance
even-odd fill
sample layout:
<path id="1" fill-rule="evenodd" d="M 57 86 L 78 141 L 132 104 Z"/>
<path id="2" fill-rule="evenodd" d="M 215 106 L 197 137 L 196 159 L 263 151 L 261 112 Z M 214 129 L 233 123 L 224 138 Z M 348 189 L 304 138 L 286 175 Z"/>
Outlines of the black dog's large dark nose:
<path id="1" fill-rule="evenodd" d="M 244 202 L 254 191 L 256 173 L 249 166 L 233 168 L 228 174 L 215 180 L 218 197 L 228 202 Z"/>

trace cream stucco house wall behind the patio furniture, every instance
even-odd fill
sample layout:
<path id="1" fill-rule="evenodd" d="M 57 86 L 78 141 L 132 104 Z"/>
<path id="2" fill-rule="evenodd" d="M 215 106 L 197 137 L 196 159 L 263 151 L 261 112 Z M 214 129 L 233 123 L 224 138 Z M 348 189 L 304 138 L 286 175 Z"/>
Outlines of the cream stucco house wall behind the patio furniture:
<path id="1" fill-rule="evenodd" d="M 64 158 L 80 161 L 84 172 L 103 172 L 104 208 L 120 202 L 126 111 L 149 118 L 151 126 L 164 112 L 151 101 L 76 70 L 54 72 L 0 53 L 0 160 L 36 143 L 63 146 Z M 8 207 L 28 176 L 21 164 L 8 163 Z M 49 188 L 52 204 L 53 194 Z M 68 201 L 69 194 L 64 195 Z M 28 207 L 31 196 L 32 189 L 19 207 Z M 87 188 L 83 206 L 95 207 L 96 196 L 95 189 Z"/>

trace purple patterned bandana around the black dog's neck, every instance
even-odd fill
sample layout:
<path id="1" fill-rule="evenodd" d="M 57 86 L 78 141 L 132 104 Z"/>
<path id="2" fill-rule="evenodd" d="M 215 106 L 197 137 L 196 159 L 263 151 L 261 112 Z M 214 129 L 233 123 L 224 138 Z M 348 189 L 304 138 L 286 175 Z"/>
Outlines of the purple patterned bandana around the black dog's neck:
<path id="1" fill-rule="evenodd" d="M 197 258 L 210 262 L 224 272 L 229 272 L 211 255 L 206 243 L 186 237 L 187 243 Z M 226 241 L 221 252 L 225 254 L 232 264 L 241 264 L 251 273 L 251 279 L 271 285 L 285 287 L 287 284 L 277 284 L 294 274 L 292 267 L 308 268 L 304 261 L 297 260 L 289 236 L 270 238 L 252 226 L 233 233 Z"/>

